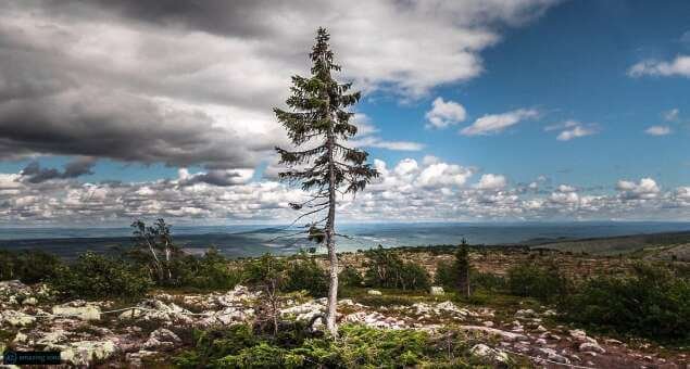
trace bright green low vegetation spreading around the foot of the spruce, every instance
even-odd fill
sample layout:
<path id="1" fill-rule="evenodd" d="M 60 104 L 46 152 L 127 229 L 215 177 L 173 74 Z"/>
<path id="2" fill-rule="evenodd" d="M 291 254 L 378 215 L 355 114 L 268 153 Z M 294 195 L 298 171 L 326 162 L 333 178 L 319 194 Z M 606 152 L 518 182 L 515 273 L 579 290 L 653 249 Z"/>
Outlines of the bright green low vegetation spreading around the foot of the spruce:
<path id="1" fill-rule="evenodd" d="M 468 341 L 449 332 L 437 340 L 414 330 L 379 330 L 355 325 L 339 329 L 337 341 L 305 336 L 299 326 L 274 338 L 249 326 L 195 333 L 193 349 L 174 360 L 180 368 L 436 368 L 492 367 L 468 354 Z"/>

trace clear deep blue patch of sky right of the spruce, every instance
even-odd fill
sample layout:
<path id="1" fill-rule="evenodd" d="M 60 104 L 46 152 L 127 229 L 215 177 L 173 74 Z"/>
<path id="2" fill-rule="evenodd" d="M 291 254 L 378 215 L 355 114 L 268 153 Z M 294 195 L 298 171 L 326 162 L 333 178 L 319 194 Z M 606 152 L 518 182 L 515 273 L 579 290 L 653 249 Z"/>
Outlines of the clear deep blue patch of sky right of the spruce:
<path id="1" fill-rule="evenodd" d="M 622 177 L 658 178 L 665 186 L 690 182 L 690 80 L 687 77 L 631 78 L 640 60 L 673 59 L 690 52 L 690 7 L 685 2 L 567 2 L 529 26 L 511 29 L 482 52 L 485 73 L 471 81 L 439 88 L 437 96 L 467 110 L 466 126 L 485 114 L 535 107 L 543 114 L 506 131 L 464 137 L 456 129 L 424 129 L 430 99 L 411 105 L 374 100 L 361 111 L 387 138 L 419 141 L 424 154 L 473 163 L 489 173 L 529 182 L 539 175 L 579 186 L 611 190 Z M 677 109 L 680 122 L 665 122 Z M 567 119 L 595 123 L 597 135 L 567 142 L 545 126 Z M 644 133 L 669 125 L 674 133 Z M 402 158 L 406 153 L 375 154 Z"/>

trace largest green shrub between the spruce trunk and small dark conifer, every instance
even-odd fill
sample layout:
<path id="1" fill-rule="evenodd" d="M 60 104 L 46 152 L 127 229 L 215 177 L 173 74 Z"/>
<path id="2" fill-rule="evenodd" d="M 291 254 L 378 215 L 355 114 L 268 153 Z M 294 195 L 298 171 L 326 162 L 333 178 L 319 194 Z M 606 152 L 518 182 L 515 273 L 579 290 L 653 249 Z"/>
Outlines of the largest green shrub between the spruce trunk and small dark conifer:
<path id="1" fill-rule="evenodd" d="M 367 285 L 402 290 L 429 288 L 429 273 L 424 267 L 403 262 L 396 253 L 386 251 L 380 245 L 366 254 L 369 257 L 364 276 Z"/>

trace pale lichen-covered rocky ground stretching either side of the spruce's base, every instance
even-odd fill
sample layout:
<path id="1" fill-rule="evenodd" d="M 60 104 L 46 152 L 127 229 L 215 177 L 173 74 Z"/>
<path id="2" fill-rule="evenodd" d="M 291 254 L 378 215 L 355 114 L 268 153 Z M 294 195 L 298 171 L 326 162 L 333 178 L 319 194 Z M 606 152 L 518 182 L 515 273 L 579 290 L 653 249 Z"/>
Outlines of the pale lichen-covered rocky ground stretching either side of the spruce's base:
<path id="1" fill-rule="evenodd" d="M 405 305 L 366 305 L 362 302 L 389 293 L 367 291 L 362 298 L 339 301 L 339 320 L 431 334 L 452 326 L 473 338 L 474 355 L 497 364 L 515 357 L 547 368 L 690 368 L 688 355 L 679 351 L 559 326 L 552 319 L 557 311 L 547 306 L 462 306 L 442 291 L 434 292 Z M 60 351 L 66 366 L 75 367 L 166 367 L 171 355 L 190 341 L 192 328 L 250 321 L 261 298 L 241 285 L 225 293 L 155 293 L 128 306 L 84 301 L 51 305 L 47 295 L 41 285 L 0 282 L 0 348 Z M 296 295 L 283 301 L 280 309 L 286 319 L 309 320 L 324 311 L 325 300 Z"/>

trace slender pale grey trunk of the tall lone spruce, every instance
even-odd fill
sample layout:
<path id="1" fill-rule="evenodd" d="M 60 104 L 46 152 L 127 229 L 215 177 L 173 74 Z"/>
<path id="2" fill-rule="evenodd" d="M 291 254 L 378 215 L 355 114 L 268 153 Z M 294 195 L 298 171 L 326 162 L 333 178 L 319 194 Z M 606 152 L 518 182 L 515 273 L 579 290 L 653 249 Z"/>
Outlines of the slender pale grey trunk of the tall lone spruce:
<path id="1" fill-rule="evenodd" d="M 338 336 L 336 325 L 336 309 L 338 306 L 338 254 L 336 254 L 335 221 L 336 221 L 336 173 L 334 148 L 335 137 L 333 128 L 328 130 L 328 219 L 326 220 L 326 247 L 328 249 L 328 260 L 330 264 L 328 287 L 328 311 L 326 314 L 326 328 L 333 336 Z"/>

